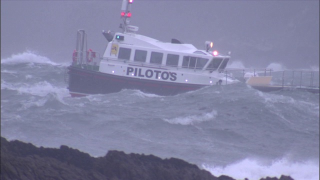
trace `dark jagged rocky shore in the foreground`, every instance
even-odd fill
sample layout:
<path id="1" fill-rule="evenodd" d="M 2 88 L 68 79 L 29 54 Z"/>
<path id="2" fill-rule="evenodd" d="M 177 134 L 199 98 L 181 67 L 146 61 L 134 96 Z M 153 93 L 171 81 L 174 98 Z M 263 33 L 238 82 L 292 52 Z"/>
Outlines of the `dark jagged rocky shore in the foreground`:
<path id="1" fill-rule="evenodd" d="M 232 180 L 227 175 L 216 177 L 177 158 L 161 159 L 109 150 L 104 157 L 92 157 L 77 149 L 36 147 L 18 140 L 1 137 L 0 179 L 219 179 Z M 290 176 L 265 177 L 261 180 L 292 180 Z"/>

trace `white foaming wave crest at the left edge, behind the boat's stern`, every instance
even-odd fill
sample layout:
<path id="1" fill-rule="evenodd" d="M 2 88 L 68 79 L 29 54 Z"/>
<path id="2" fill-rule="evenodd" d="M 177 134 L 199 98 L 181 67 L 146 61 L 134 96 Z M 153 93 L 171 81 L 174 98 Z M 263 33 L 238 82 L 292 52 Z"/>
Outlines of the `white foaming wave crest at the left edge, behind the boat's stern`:
<path id="1" fill-rule="evenodd" d="M 19 64 L 19 63 L 48 63 L 58 65 L 49 58 L 36 54 L 33 51 L 12 54 L 11 57 L 1 59 L 1 64 Z"/>

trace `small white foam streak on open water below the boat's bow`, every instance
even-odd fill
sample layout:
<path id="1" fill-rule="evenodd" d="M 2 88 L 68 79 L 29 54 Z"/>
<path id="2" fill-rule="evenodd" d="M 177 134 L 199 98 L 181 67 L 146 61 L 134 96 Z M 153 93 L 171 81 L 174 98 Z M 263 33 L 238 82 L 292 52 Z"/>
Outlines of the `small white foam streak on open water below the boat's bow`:
<path id="1" fill-rule="evenodd" d="M 201 113 L 199 115 L 188 115 L 171 119 L 164 118 L 163 120 L 171 124 L 193 125 L 194 123 L 211 120 L 216 116 L 216 114 L 217 112 L 215 110 L 212 110 L 211 112 Z"/>

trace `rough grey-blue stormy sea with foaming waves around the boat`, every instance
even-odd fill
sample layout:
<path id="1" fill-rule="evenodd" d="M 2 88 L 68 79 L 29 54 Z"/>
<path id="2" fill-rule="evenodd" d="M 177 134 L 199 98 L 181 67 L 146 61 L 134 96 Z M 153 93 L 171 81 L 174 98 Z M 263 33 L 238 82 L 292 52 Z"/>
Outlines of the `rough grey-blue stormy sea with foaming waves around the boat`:
<path id="1" fill-rule="evenodd" d="M 70 63 L 29 51 L 1 59 L 1 136 L 95 157 L 176 157 L 236 179 L 319 179 L 318 93 L 236 83 L 174 96 L 124 89 L 71 97 Z"/>

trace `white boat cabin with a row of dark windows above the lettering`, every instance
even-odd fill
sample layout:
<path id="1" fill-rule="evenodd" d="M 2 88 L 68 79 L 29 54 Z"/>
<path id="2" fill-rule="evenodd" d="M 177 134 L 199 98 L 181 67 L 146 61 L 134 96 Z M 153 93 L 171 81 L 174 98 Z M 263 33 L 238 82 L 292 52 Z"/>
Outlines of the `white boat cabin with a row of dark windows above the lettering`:
<path id="1" fill-rule="evenodd" d="M 103 54 L 106 58 L 115 58 L 128 62 L 149 65 L 182 67 L 197 70 L 223 70 L 230 56 L 212 51 L 199 50 L 192 44 L 162 42 L 135 33 L 116 33 Z"/>

